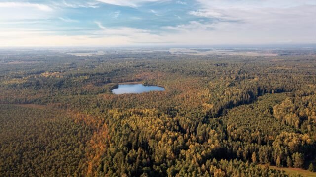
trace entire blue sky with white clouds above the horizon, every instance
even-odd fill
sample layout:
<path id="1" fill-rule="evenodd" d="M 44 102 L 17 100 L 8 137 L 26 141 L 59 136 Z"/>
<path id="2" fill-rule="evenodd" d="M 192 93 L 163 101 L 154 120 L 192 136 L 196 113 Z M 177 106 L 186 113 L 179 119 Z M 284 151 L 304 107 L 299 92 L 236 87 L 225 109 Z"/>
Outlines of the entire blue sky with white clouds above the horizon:
<path id="1" fill-rule="evenodd" d="M 315 44 L 316 0 L 0 0 L 0 46 Z"/>

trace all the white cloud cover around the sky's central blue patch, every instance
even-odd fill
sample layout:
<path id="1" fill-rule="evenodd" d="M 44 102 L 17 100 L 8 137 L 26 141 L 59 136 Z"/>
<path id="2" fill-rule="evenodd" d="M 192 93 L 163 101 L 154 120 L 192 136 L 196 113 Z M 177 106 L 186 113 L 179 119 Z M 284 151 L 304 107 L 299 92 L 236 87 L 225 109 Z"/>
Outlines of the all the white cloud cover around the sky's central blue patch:
<path id="1" fill-rule="evenodd" d="M 138 7 L 142 3 L 164 0 L 98 1 Z M 62 29 L 14 28 L 14 25 L 49 23 L 47 19 L 50 18 L 59 18 L 64 22 L 77 22 L 77 20 L 65 17 L 65 14 L 58 14 L 59 8 L 88 7 L 89 5 L 97 6 L 97 4 L 65 2 L 60 6 L 55 4 L 54 6 L 42 6 L 34 3 L 0 2 L 0 25 L 2 25 L 0 28 L 0 46 L 88 46 L 169 42 L 189 45 L 316 43 L 316 5 L 311 0 L 198 1 L 201 4 L 201 9 L 190 11 L 189 14 L 209 18 L 209 20 L 188 21 L 181 25 L 163 27 L 159 35 L 153 34 L 151 30 L 123 27 L 124 24 L 121 24 L 121 27 L 105 27 L 100 22 L 95 22 L 99 29 L 93 31 L 81 31 L 80 29 L 80 35 L 72 36 L 61 35 L 56 32 L 62 31 Z M 160 15 L 155 10 L 151 10 L 151 12 Z M 113 18 L 118 18 L 120 11 L 116 11 L 112 15 Z M 175 17 L 178 16 L 175 15 Z M 131 16 L 130 18 L 143 19 L 142 16 Z M 184 20 L 185 16 L 182 18 Z"/>

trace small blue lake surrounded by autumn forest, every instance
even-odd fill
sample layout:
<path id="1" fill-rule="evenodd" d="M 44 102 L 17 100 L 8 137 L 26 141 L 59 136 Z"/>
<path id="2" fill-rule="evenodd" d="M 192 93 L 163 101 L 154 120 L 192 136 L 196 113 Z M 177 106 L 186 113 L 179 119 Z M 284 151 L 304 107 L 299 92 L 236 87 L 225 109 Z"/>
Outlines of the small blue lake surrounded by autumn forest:
<path id="1" fill-rule="evenodd" d="M 118 88 L 112 89 L 114 94 L 124 93 L 143 93 L 149 91 L 164 91 L 163 87 L 159 86 L 144 86 L 142 84 L 119 84 Z"/>

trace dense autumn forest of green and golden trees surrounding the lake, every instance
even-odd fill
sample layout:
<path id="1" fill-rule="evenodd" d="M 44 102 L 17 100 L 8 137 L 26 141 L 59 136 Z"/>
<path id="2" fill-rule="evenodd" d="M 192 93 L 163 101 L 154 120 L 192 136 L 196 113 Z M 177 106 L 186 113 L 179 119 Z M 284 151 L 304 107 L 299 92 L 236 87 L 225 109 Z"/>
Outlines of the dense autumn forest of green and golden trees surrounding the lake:
<path id="1" fill-rule="evenodd" d="M 1 50 L 0 176 L 316 176 L 316 52 L 273 52 Z"/>

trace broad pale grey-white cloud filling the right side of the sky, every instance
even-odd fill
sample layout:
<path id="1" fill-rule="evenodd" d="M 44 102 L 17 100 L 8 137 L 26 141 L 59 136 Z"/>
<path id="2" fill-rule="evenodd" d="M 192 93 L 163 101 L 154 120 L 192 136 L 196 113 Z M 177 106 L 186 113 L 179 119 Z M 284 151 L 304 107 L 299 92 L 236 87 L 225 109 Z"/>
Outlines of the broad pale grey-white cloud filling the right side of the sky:
<path id="1" fill-rule="evenodd" d="M 190 32 L 190 36 L 204 34 L 200 39 L 210 43 L 316 43 L 316 1 L 197 1 L 203 8 L 189 14 L 209 18 L 212 23 L 190 22 L 167 28 Z"/>

